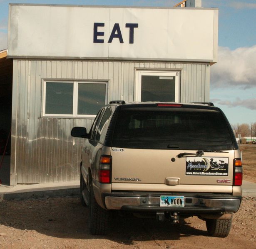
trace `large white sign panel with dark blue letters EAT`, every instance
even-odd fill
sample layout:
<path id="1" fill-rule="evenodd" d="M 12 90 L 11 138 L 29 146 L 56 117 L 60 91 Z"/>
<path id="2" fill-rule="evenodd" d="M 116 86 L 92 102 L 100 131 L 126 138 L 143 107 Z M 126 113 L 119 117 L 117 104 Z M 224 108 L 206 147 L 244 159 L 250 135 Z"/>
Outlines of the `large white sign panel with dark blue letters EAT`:
<path id="1" fill-rule="evenodd" d="M 218 10 L 10 5 L 8 56 L 216 61 Z"/>

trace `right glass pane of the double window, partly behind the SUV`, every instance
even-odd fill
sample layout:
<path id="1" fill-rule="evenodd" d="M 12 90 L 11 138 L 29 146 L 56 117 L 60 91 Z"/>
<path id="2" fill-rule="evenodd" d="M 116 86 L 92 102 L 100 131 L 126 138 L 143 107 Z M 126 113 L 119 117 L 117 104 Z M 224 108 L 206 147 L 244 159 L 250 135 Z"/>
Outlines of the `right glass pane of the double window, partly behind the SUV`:
<path id="1" fill-rule="evenodd" d="M 79 115 L 96 115 L 104 105 L 106 105 L 106 84 L 78 84 L 77 113 Z"/>

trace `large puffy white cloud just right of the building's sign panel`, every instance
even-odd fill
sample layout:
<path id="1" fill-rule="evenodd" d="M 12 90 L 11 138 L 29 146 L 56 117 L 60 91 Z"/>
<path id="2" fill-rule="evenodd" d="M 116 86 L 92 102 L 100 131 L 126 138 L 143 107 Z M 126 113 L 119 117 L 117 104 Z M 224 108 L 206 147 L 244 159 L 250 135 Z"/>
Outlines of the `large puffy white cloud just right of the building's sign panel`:
<path id="1" fill-rule="evenodd" d="M 219 47 L 218 62 L 211 66 L 211 85 L 215 88 L 256 86 L 256 45 L 230 50 Z"/>

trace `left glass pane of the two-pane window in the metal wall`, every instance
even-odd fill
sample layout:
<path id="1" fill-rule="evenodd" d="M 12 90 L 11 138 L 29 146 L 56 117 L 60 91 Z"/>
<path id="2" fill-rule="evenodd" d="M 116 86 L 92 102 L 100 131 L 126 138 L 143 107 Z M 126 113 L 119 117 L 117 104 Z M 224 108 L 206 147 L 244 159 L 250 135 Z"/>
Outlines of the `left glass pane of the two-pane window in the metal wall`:
<path id="1" fill-rule="evenodd" d="M 45 114 L 73 114 L 73 83 L 46 82 Z"/>

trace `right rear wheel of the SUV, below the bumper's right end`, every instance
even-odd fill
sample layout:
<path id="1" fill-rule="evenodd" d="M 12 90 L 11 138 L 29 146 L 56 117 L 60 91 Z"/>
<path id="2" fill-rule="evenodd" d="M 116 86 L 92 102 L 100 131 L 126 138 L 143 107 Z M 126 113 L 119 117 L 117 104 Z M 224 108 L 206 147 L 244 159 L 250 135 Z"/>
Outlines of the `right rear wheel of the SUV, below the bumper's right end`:
<path id="1" fill-rule="evenodd" d="M 206 228 L 211 236 L 227 237 L 231 229 L 232 217 L 230 220 L 206 220 Z"/>

